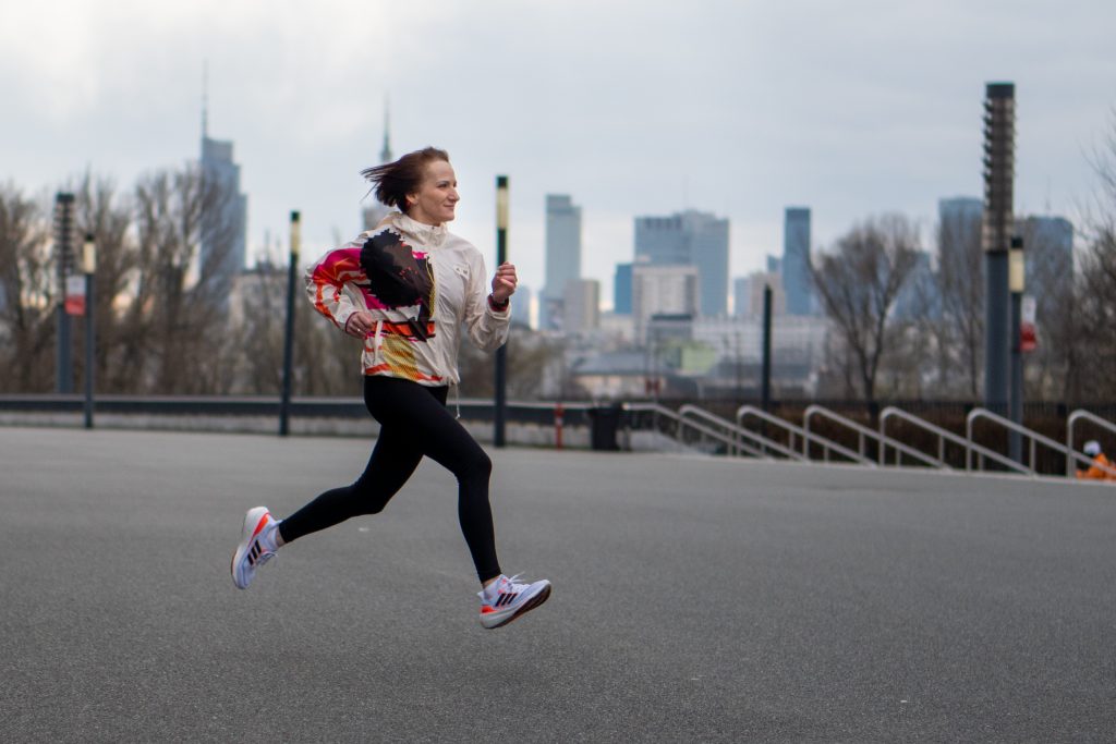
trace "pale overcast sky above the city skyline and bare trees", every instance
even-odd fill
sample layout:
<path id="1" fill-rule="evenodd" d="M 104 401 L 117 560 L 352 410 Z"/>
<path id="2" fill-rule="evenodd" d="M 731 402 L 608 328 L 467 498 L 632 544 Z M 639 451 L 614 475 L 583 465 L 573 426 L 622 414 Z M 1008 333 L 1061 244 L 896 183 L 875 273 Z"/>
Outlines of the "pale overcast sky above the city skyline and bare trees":
<path id="1" fill-rule="evenodd" d="M 510 253 L 542 286 L 543 201 L 583 210 L 583 273 L 612 299 L 633 218 L 731 220 L 731 273 L 899 211 L 982 194 L 984 86 L 1013 81 L 1016 211 L 1075 219 L 1116 126 L 1116 2 L 781 0 L 0 0 L 0 181 L 52 193 L 90 168 L 129 189 L 234 143 L 249 249 L 309 260 L 360 229 L 385 97 L 396 155 L 449 149 L 453 230 L 491 268 L 494 180 Z M 280 248 L 279 241 L 282 241 Z"/>

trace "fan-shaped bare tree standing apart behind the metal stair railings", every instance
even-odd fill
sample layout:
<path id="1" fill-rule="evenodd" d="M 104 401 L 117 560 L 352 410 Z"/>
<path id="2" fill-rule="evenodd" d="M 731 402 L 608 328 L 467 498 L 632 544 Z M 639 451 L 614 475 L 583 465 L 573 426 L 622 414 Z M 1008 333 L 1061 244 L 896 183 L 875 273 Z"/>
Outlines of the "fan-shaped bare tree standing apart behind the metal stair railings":
<path id="1" fill-rule="evenodd" d="M 854 226 L 836 250 L 820 253 L 810 274 L 822 307 L 856 360 L 869 410 L 888 341 L 888 316 L 917 260 L 918 231 L 899 214 Z"/>

